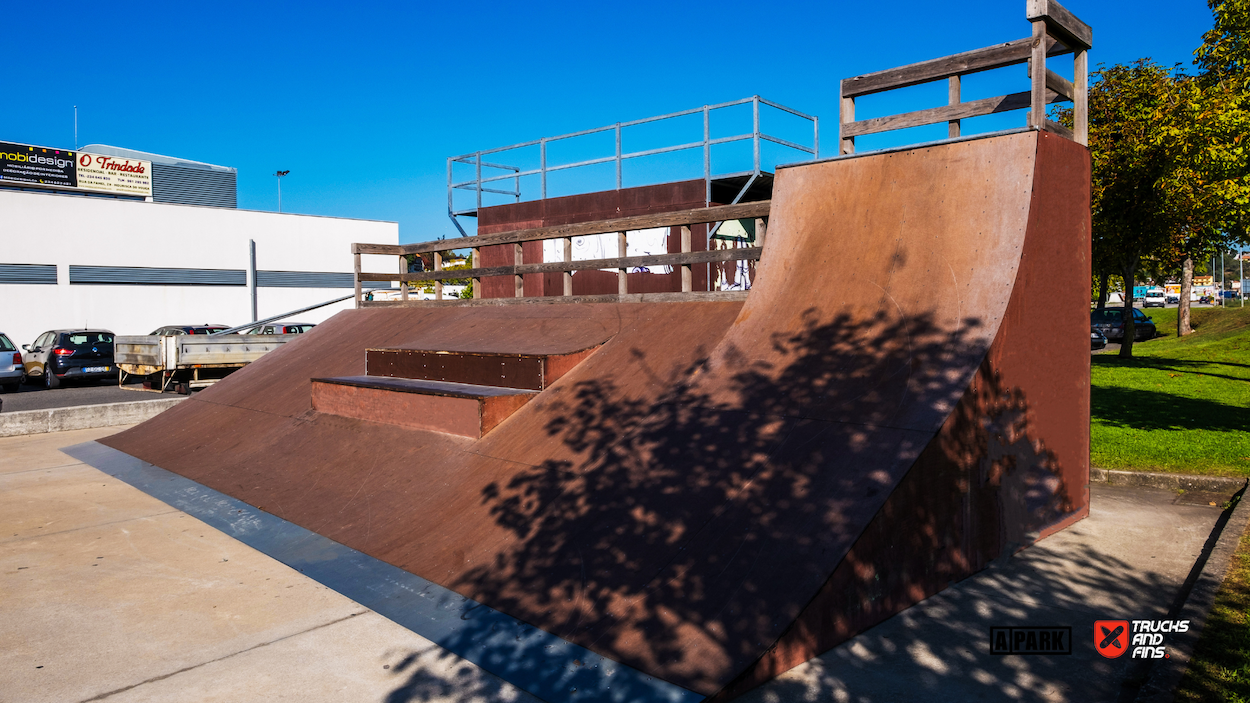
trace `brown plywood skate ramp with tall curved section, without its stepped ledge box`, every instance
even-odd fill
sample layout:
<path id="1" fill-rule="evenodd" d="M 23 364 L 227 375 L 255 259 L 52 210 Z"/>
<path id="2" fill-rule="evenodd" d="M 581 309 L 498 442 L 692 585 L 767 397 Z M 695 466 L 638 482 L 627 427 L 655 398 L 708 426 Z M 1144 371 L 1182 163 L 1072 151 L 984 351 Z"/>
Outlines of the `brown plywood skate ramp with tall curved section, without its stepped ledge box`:
<path id="1" fill-rule="evenodd" d="M 1088 293 L 1088 153 L 1056 140 L 782 169 L 746 303 L 352 310 L 108 444 L 729 697 L 1082 514 L 1048 433 L 1088 423 L 1084 333 L 1022 324 Z M 365 349 L 486 340 L 602 345 L 478 440 L 310 405 Z"/>

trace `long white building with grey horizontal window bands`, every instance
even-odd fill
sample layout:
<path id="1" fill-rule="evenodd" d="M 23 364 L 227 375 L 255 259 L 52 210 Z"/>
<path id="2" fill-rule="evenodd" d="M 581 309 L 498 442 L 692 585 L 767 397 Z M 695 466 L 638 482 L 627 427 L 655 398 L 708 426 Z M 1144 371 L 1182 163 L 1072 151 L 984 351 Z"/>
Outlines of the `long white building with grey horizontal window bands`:
<path id="1" fill-rule="evenodd" d="M 354 241 L 398 244 L 399 225 L 12 183 L 0 188 L 0 331 L 20 345 L 56 328 L 240 325 L 254 319 L 254 291 L 260 319 L 350 295 Z M 364 259 L 365 270 L 396 270 L 394 256 Z M 292 319 L 319 323 L 351 305 Z"/>

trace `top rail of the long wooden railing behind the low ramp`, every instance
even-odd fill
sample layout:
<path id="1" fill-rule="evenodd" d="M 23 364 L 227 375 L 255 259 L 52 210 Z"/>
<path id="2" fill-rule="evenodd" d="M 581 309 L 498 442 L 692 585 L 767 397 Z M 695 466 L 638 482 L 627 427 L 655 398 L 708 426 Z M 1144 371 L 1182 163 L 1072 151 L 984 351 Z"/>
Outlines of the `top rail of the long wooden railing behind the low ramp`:
<path id="1" fill-rule="evenodd" d="M 692 210 L 675 210 L 672 213 L 634 215 L 630 218 L 616 218 L 594 223 L 575 223 L 569 225 L 501 231 L 498 234 L 480 234 L 478 236 L 462 236 L 460 239 L 440 239 L 436 241 L 422 241 L 420 244 L 402 244 L 398 248 L 386 244 L 352 244 L 352 251 L 355 251 L 356 248 L 361 248 L 361 254 L 424 254 L 428 251 L 446 251 L 448 249 L 494 246 L 496 244 L 539 241 L 542 239 L 564 239 L 566 236 L 608 234 L 612 231 L 651 229 L 659 226 L 699 225 L 705 223 L 719 223 L 721 220 L 759 218 L 769 214 L 769 200 L 760 200 L 758 203 L 715 205 L 712 208 L 695 208 Z M 366 251 L 365 248 L 370 250 Z M 379 248 L 385 250 L 372 250 Z"/>

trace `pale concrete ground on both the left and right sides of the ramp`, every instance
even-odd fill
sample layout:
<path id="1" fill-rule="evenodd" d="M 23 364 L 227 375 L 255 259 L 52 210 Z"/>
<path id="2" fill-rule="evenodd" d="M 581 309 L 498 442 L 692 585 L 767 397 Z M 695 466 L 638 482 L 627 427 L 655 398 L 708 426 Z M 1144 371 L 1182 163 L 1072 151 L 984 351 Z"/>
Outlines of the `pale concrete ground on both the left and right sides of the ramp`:
<path id="1" fill-rule="evenodd" d="M 0 703 L 536 700 L 58 450 L 120 429 L 0 439 Z M 1220 509 L 1091 490 L 1089 519 L 741 700 L 1131 700 L 1145 670 L 1094 620 L 1164 617 Z M 1074 654 L 990 655 L 1002 625 L 1069 625 Z"/>

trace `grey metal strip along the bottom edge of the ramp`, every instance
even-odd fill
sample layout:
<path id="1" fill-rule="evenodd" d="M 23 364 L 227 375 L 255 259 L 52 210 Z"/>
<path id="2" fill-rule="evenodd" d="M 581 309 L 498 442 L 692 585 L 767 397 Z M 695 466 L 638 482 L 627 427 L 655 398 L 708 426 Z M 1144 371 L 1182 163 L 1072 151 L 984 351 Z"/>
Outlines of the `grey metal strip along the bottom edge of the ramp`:
<path id="1" fill-rule="evenodd" d="M 61 452 L 549 703 L 704 699 L 124 452 L 96 442 Z"/>

